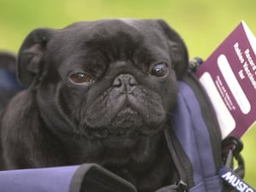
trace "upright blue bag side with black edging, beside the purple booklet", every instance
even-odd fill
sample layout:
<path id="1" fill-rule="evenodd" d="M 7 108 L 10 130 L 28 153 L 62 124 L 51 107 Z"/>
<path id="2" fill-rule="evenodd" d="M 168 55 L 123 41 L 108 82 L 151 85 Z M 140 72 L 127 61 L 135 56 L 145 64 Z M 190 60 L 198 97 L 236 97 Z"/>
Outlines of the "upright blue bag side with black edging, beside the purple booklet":
<path id="1" fill-rule="evenodd" d="M 178 82 L 178 88 L 172 128 L 166 129 L 170 152 L 186 172 L 189 191 L 221 191 L 221 134 L 211 102 L 193 73 Z"/>

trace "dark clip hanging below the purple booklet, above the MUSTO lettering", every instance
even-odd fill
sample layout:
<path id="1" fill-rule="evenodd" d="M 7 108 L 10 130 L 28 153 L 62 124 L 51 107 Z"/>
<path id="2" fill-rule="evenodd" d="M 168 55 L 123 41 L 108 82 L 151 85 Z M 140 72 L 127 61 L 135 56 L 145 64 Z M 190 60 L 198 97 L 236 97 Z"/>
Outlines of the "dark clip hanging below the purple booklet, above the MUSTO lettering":
<path id="1" fill-rule="evenodd" d="M 244 160 L 241 157 L 243 143 L 237 137 L 227 137 L 222 143 L 224 165 L 243 178 L 245 174 Z M 234 160 L 237 166 L 234 167 Z"/>

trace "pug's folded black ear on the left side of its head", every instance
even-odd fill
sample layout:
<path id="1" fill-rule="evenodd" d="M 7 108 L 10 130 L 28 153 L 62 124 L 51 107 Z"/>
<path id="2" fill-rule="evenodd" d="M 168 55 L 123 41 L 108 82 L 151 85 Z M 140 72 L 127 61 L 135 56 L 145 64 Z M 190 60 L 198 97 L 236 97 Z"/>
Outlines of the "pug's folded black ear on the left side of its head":
<path id="1" fill-rule="evenodd" d="M 28 86 L 38 80 L 44 67 L 44 52 L 54 30 L 38 28 L 33 30 L 20 47 L 18 54 L 18 79 Z"/>

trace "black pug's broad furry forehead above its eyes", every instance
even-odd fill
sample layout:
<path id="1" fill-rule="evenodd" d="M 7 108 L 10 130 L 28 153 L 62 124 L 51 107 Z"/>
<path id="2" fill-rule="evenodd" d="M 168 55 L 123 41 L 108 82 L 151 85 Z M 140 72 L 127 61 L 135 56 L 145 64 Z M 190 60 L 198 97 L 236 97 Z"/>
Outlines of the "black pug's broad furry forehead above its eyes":
<path id="1" fill-rule="evenodd" d="M 55 49 L 56 61 L 84 61 L 86 57 L 124 61 L 136 51 L 150 55 L 167 49 L 166 38 L 154 20 L 79 22 L 56 32 L 49 46 Z"/>

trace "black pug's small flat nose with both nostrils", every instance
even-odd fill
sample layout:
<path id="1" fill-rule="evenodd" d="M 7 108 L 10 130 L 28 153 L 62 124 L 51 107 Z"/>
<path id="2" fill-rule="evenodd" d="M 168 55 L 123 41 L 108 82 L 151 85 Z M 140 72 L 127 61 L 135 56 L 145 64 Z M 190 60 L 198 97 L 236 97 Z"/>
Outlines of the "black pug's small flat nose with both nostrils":
<path id="1" fill-rule="evenodd" d="M 133 90 L 133 87 L 137 85 L 137 80 L 131 74 L 119 74 L 113 80 L 113 87 L 119 88 L 121 91 L 129 93 Z"/>

